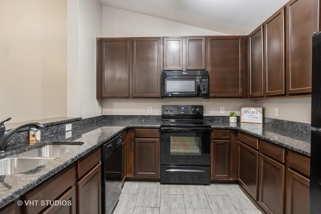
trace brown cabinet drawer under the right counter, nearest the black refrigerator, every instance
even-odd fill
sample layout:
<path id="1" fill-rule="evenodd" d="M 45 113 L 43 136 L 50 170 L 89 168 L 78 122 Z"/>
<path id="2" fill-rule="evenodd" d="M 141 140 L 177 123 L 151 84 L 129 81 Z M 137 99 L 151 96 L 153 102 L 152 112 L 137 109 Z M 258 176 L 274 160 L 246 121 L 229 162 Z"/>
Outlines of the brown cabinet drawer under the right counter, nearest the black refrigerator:
<path id="1" fill-rule="evenodd" d="M 287 150 L 286 166 L 310 176 L 310 158 L 306 156 Z"/>

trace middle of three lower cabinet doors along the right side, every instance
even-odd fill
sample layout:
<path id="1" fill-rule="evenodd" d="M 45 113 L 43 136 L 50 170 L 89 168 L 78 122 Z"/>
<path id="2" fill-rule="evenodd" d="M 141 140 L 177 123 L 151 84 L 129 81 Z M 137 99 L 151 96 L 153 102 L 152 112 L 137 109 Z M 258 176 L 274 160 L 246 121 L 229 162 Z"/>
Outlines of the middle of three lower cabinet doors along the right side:
<path id="1" fill-rule="evenodd" d="M 259 204 L 266 213 L 284 213 L 285 166 L 260 153 Z"/>

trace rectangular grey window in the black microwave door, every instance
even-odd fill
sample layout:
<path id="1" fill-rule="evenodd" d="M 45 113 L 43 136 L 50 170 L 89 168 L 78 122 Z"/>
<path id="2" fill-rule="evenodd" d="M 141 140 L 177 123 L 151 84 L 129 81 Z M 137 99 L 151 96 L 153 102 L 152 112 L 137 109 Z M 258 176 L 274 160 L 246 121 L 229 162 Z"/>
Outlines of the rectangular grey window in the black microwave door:
<path id="1" fill-rule="evenodd" d="M 197 81 L 196 79 L 191 80 L 175 80 L 169 79 L 166 80 L 166 92 L 175 93 L 175 92 L 197 92 Z"/>

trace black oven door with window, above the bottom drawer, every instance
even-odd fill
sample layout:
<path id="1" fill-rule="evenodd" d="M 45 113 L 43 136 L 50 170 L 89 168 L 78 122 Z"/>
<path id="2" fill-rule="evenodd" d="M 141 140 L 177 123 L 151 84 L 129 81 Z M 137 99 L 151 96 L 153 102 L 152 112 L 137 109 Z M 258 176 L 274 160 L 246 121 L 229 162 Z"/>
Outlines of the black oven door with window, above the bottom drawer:
<path id="1" fill-rule="evenodd" d="M 161 128 L 161 165 L 210 166 L 210 128 Z"/>

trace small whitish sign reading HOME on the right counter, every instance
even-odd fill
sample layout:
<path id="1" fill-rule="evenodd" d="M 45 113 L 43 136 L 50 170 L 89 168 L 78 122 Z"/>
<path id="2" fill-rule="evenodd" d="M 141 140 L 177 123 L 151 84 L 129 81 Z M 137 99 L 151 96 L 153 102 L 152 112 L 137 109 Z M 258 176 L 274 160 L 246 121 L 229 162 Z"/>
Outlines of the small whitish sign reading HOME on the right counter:
<path id="1" fill-rule="evenodd" d="M 241 123 L 263 123 L 262 107 L 242 107 L 240 115 Z"/>

